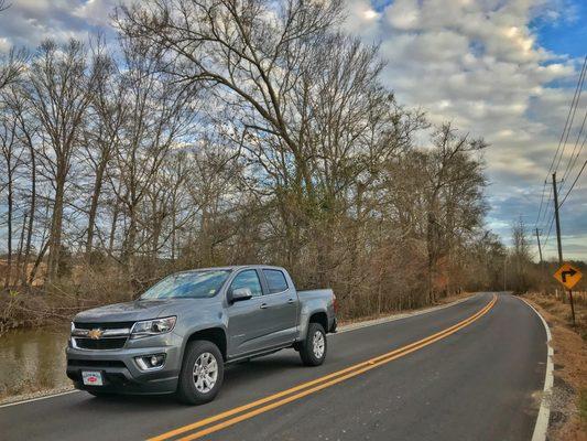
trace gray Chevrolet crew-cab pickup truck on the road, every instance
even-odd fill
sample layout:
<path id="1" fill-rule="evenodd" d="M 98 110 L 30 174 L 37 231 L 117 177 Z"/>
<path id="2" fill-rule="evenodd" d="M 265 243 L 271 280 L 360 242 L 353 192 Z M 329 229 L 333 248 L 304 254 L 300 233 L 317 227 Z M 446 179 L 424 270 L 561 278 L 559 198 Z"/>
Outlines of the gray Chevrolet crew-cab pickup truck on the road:
<path id="1" fill-rule="evenodd" d="M 296 291 L 279 267 L 175 273 L 133 302 L 77 314 L 67 376 L 95 396 L 176 392 L 207 402 L 227 363 L 294 347 L 305 365 L 320 365 L 335 309 L 331 290 Z"/>

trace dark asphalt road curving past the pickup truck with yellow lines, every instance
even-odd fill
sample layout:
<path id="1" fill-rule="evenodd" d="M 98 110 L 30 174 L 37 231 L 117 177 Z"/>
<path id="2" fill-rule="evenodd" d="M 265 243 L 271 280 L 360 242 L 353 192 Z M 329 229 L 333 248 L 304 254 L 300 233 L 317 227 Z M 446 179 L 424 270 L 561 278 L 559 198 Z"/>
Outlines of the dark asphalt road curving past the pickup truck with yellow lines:
<path id="1" fill-rule="evenodd" d="M 303 367 L 294 351 L 231 366 L 217 399 L 200 407 L 171 397 L 99 399 L 75 392 L 0 408 L 0 439 L 530 440 L 544 384 L 545 330 L 521 300 L 509 294 L 492 300 L 481 293 L 426 314 L 329 335 L 319 367 Z M 414 342 L 420 343 L 405 347 Z M 382 354 L 388 355 L 377 358 Z"/>

